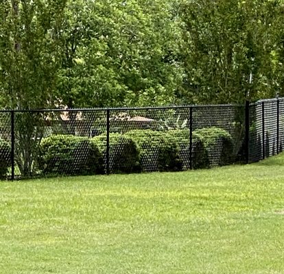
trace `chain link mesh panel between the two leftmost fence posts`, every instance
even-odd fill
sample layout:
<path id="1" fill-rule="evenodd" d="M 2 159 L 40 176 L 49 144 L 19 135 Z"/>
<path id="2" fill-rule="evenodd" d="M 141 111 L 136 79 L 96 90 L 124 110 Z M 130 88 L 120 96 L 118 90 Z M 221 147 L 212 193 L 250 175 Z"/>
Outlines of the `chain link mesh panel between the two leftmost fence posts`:
<path id="1" fill-rule="evenodd" d="M 105 111 L 15 112 L 14 133 L 16 177 L 84 175 L 104 169 L 97 164 L 99 153 L 92 140 L 106 136 Z M 104 147 L 99 149 L 103 154 Z"/>

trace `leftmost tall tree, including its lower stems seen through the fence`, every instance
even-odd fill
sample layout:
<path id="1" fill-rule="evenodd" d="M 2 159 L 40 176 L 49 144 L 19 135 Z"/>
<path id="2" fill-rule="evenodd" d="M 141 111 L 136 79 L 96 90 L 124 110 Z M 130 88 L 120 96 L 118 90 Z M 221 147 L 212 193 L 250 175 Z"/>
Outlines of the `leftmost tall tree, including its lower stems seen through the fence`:
<path id="1" fill-rule="evenodd" d="M 49 108 L 60 65 L 58 38 L 65 0 L 3 0 L 0 5 L 1 106 Z M 22 175 L 34 169 L 43 136 L 43 115 L 16 113 L 16 164 Z"/>

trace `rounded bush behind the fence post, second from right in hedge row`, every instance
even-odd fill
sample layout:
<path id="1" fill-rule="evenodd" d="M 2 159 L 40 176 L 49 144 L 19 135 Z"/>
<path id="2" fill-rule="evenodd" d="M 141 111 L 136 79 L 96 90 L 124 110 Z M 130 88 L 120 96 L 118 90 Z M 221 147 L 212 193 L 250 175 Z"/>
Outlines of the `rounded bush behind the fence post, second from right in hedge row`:
<path id="1" fill-rule="evenodd" d="M 177 142 L 180 149 L 184 169 L 190 168 L 189 129 L 176 129 L 167 132 L 168 138 Z M 199 135 L 192 134 L 192 168 L 206 169 L 209 167 L 209 156 Z"/>

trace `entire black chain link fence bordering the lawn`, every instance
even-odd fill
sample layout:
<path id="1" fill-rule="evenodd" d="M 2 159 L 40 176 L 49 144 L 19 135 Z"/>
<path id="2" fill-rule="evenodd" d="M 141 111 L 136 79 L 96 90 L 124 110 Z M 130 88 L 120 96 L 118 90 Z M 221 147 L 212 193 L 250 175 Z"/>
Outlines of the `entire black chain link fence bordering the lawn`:
<path id="1" fill-rule="evenodd" d="M 206 169 L 282 151 L 284 99 L 0 111 L 0 178 Z"/>

